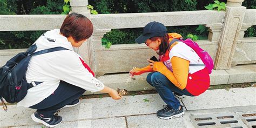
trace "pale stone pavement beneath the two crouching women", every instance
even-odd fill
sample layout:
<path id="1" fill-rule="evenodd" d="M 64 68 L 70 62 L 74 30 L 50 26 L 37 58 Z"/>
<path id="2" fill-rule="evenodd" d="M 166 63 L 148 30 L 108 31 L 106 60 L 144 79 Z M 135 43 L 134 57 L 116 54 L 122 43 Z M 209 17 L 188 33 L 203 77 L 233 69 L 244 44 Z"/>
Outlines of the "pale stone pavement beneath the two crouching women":
<path id="1" fill-rule="evenodd" d="M 180 99 L 185 116 L 162 120 L 156 112 L 164 102 L 158 94 L 83 99 L 58 113 L 57 127 L 256 127 L 256 87 L 207 90 Z M 0 110 L 0 127 L 45 127 L 32 121 L 35 110 L 8 105 Z"/>

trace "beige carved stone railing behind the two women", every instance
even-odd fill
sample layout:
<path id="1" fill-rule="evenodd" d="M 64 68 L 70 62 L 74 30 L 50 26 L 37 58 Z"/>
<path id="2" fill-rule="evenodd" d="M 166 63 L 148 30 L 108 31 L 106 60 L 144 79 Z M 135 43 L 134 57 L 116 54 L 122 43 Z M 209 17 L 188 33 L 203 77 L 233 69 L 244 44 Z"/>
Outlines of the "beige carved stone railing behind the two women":
<path id="1" fill-rule="evenodd" d="M 199 25 L 208 27 L 208 39 L 197 41 L 214 58 L 214 69 L 230 69 L 237 64 L 256 63 L 256 37 L 244 38 L 244 31 L 256 24 L 256 9 L 241 6 L 243 0 L 228 0 L 226 11 L 180 11 L 137 14 L 90 15 L 87 1 L 71 0 L 73 12 L 89 17 L 94 31 L 86 45 L 75 49 L 90 64 L 97 76 L 129 72 L 142 67 L 156 53 L 145 44 L 102 46 L 101 39 L 111 29 L 143 28 L 151 21 L 166 26 Z M 59 29 L 65 15 L 0 15 L 0 31 L 31 31 Z M 0 50 L 0 65 L 24 49 Z"/>

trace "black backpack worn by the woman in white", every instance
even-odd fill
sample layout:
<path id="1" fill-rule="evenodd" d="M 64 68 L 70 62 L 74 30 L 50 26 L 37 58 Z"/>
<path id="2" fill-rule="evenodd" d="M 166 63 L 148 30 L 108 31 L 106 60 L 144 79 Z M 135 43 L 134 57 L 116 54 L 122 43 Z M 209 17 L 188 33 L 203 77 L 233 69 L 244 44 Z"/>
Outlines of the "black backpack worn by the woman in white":
<path id="1" fill-rule="evenodd" d="M 32 56 L 53 51 L 69 50 L 60 46 L 35 52 L 36 49 L 36 44 L 31 45 L 28 50 L 18 53 L 0 68 L 0 98 L 5 111 L 7 111 L 7 106 L 5 105 L 3 98 L 8 103 L 18 103 L 26 96 L 28 89 L 33 87 L 26 82 L 25 77 L 29 60 Z"/>

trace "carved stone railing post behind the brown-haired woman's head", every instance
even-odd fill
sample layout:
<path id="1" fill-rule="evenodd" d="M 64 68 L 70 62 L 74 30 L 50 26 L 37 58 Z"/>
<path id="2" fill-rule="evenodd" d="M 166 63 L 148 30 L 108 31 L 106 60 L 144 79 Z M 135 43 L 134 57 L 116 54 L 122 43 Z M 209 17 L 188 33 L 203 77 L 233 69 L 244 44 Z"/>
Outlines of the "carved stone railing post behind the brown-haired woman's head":
<path id="1" fill-rule="evenodd" d="M 83 14 L 84 16 L 90 19 L 90 15 L 91 15 L 90 10 L 87 9 L 86 7 L 86 5 L 88 5 L 87 0 L 70 0 L 70 5 L 71 5 L 70 13 L 76 12 L 78 14 Z M 93 56 L 91 44 L 92 44 L 92 41 L 89 38 L 82 46 L 80 46 L 79 48 L 74 48 L 75 52 L 77 52 L 84 59 L 85 63 L 89 64 L 89 66 L 92 66 L 91 56 Z"/>

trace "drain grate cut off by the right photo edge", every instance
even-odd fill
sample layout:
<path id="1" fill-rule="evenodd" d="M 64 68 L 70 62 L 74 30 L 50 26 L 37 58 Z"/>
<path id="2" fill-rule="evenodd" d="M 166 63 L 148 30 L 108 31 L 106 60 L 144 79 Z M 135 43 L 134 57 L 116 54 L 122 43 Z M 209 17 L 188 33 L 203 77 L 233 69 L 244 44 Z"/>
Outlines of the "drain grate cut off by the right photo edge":
<path id="1" fill-rule="evenodd" d="M 256 111 L 237 112 L 237 114 L 247 127 L 256 128 Z"/>

